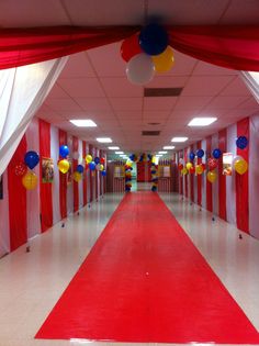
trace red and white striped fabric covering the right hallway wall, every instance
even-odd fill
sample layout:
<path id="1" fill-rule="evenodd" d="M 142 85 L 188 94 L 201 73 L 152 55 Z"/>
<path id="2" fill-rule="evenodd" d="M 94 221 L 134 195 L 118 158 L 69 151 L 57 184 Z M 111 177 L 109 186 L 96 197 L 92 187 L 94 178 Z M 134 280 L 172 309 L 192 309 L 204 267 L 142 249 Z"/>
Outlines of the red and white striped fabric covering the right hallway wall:
<path id="1" fill-rule="evenodd" d="M 249 145 L 246 149 L 236 146 L 238 136 L 246 136 Z M 239 230 L 259 238 L 259 115 L 245 118 L 236 124 L 219 131 L 212 136 L 194 144 L 192 147 L 180 150 L 177 161 L 189 153 L 202 148 L 204 157 L 199 161 L 205 163 L 205 156 L 212 155 L 213 149 L 219 148 L 222 153 L 240 155 L 248 163 L 248 171 L 243 176 L 233 170 L 232 176 L 222 175 L 222 158 L 215 169 L 217 180 L 211 183 L 206 180 L 206 172 L 202 176 L 193 177 L 193 199 L 194 202 L 211 211 L 213 214 L 236 225 Z M 185 161 L 187 163 L 187 161 Z M 192 183 L 179 175 L 179 193 L 191 198 Z M 199 180 L 201 182 L 199 182 Z"/>

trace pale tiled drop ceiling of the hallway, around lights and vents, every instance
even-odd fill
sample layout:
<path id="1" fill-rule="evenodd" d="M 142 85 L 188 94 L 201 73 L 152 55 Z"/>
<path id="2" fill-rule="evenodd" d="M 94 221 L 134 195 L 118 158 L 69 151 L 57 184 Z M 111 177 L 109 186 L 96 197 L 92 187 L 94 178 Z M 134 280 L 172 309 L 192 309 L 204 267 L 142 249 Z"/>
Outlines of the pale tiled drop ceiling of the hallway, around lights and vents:
<path id="1" fill-rule="evenodd" d="M 5 0 L 0 2 L 2 27 L 49 25 L 144 24 L 150 15 L 168 24 L 258 24 L 258 0 Z M 156 75 L 146 87 L 183 88 L 179 97 L 144 98 L 132 85 L 120 55 L 121 43 L 70 56 L 37 116 L 93 143 L 109 136 L 126 153 L 157 152 L 173 136 L 188 144 L 259 113 L 259 104 L 238 71 L 219 68 L 174 52 L 170 72 Z M 216 116 L 207 127 L 189 127 L 194 116 Z M 97 127 L 80 129 L 69 119 L 91 119 Z M 158 123 L 150 125 L 149 123 Z M 142 131 L 160 131 L 142 136 Z M 99 145 L 106 148 L 108 145 Z"/>

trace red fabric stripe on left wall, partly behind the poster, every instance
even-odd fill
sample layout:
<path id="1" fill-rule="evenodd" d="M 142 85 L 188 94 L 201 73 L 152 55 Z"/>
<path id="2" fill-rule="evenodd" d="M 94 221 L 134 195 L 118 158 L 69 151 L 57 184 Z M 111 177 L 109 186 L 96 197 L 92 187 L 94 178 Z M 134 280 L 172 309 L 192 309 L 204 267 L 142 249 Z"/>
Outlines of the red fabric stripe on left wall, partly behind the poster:
<path id="1" fill-rule="evenodd" d="M 40 165 L 44 157 L 50 158 L 50 124 L 38 120 L 40 129 Z M 53 190 L 50 182 L 42 181 L 42 169 L 40 167 L 40 198 L 41 198 L 41 224 L 42 232 L 53 225 Z"/>

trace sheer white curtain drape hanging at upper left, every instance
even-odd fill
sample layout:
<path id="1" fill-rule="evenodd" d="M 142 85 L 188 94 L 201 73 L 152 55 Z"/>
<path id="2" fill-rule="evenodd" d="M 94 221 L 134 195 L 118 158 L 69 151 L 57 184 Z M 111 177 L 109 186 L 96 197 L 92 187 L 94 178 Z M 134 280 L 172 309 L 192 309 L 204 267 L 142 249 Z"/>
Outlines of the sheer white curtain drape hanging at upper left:
<path id="1" fill-rule="evenodd" d="M 67 59 L 0 70 L 0 175 Z"/>

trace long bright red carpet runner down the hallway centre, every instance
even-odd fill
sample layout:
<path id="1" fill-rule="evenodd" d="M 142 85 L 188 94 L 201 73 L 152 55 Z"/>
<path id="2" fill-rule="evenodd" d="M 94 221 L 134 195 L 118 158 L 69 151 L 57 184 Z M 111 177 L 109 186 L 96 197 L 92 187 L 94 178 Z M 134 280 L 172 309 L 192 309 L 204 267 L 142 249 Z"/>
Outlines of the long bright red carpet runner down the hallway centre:
<path id="1" fill-rule="evenodd" d="M 259 344 L 157 193 L 128 193 L 37 338 Z"/>

